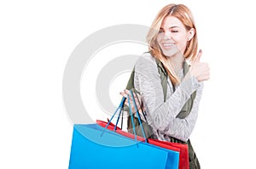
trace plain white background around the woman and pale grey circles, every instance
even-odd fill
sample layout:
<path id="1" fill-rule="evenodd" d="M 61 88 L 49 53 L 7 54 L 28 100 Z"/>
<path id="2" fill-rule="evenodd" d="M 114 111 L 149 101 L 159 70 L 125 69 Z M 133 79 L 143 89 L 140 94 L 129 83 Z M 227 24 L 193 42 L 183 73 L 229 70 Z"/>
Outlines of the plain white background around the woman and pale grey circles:
<path id="1" fill-rule="evenodd" d="M 73 126 L 61 90 L 73 49 L 107 26 L 150 25 L 168 3 L 193 11 L 201 59 L 212 71 L 191 136 L 202 168 L 255 166 L 253 1 L 5 2 L 0 3 L 0 168 L 67 168 Z"/>

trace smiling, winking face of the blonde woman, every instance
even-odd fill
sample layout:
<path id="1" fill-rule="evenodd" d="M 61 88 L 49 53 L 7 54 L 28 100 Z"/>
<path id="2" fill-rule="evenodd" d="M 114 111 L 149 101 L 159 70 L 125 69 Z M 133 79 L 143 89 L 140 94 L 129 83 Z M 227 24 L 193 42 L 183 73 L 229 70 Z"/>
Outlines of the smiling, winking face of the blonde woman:
<path id="1" fill-rule="evenodd" d="M 166 57 L 184 54 L 187 42 L 194 36 L 195 30 L 186 30 L 183 23 L 174 16 L 166 16 L 160 25 L 157 42 Z"/>

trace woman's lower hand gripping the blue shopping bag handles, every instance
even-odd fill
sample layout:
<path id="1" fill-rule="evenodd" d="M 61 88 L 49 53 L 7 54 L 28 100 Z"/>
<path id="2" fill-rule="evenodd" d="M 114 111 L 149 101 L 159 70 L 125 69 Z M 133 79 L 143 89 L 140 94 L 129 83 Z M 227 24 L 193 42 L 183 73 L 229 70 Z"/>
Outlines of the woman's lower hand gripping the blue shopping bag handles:
<path id="1" fill-rule="evenodd" d="M 123 97 L 125 97 L 125 105 L 127 105 L 129 107 L 129 103 L 128 103 L 128 97 L 130 98 L 130 104 L 131 104 L 131 111 L 132 113 L 136 113 L 136 109 L 135 109 L 135 106 L 134 106 L 134 102 L 133 102 L 133 99 L 131 97 L 131 91 L 130 90 L 127 90 L 125 89 L 124 92 L 120 92 L 120 95 L 122 95 Z M 141 99 L 141 95 L 140 94 L 136 94 L 136 93 L 133 93 L 133 97 L 135 99 L 135 102 L 136 102 L 136 105 L 137 105 L 137 110 L 139 111 L 139 113 L 142 113 L 143 112 L 143 104 L 142 104 L 142 99 Z"/>

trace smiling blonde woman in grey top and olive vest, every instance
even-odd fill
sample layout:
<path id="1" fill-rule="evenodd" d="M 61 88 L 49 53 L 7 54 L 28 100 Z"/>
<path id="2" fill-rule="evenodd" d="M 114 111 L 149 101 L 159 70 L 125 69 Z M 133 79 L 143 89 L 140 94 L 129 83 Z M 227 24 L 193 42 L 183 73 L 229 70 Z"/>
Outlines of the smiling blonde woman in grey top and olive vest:
<path id="1" fill-rule="evenodd" d="M 207 63 L 200 61 L 202 53 L 197 51 L 197 32 L 189 8 L 183 4 L 162 8 L 147 40 L 149 51 L 137 60 L 126 88 L 140 94 L 146 118 L 140 116 L 147 121 L 150 138 L 188 144 L 189 167 L 200 168 L 189 136 L 210 71 Z M 121 93 L 125 97 L 129 94 L 128 90 Z M 130 122 L 128 118 L 128 131 Z"/>

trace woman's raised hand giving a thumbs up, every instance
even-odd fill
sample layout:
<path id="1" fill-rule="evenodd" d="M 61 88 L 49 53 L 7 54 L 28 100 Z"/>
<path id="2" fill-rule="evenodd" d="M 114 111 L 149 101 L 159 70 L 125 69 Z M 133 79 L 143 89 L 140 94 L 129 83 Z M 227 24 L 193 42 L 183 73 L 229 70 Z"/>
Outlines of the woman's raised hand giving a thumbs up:
<path id="1" fill-rule="evenodd" d="M 200 61 L 201 54 L 202 51 L 200 49 L 195 59 L 191 62 L 191 66 L 189 68 L 191 76 L 195 76 L 198 82 L 207 81 L 210 78 L 209 65 Z"/>

